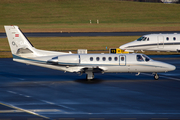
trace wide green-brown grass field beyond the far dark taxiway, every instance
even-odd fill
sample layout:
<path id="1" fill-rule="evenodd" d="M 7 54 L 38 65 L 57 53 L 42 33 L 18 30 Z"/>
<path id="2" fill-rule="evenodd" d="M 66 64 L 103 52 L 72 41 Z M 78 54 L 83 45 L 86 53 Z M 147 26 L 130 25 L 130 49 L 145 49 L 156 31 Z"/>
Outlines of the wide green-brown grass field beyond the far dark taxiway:
<path id="1" fill-rule="evenodd" d="M 180 4 L 1 0 L 0 8 L 0 32 L 4 25 L 18 25 L 24 32 L 180 31 Z"/>

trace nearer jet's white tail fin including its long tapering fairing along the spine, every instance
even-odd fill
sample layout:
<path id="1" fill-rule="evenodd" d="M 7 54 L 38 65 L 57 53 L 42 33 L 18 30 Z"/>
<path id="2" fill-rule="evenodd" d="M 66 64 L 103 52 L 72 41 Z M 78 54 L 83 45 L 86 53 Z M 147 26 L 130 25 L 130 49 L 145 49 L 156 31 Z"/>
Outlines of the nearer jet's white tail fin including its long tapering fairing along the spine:
<path id="1" fill-rule="evenodd" d="M 13 58 L 41 57 L 71 54 L 65 52 L 46 51 L 34 48 L 18 26 L 4 26 Z"/>

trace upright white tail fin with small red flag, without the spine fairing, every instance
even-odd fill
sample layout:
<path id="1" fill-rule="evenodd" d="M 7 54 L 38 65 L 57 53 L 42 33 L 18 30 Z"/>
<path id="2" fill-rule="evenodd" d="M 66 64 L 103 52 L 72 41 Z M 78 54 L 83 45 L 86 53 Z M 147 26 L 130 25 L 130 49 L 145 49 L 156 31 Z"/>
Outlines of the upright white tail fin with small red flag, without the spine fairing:
<path id="1" fill-rule="evenodd" d="M 34 47 L 18 26 L 4 26 L 12 55 L 34 56 Z"/>

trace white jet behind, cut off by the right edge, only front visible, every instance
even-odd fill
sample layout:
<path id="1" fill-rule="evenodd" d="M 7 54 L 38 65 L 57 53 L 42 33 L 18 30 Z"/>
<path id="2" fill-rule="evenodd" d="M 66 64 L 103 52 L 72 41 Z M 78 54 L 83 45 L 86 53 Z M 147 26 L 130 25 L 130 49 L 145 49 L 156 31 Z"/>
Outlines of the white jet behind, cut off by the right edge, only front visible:
<path id="1" fill-rule="evenodd" d="M 122 50 L 134 51 L 167 51 L 180 52 L 180 34 L 143 35 L 133 42 L 119 47 Z"/>

